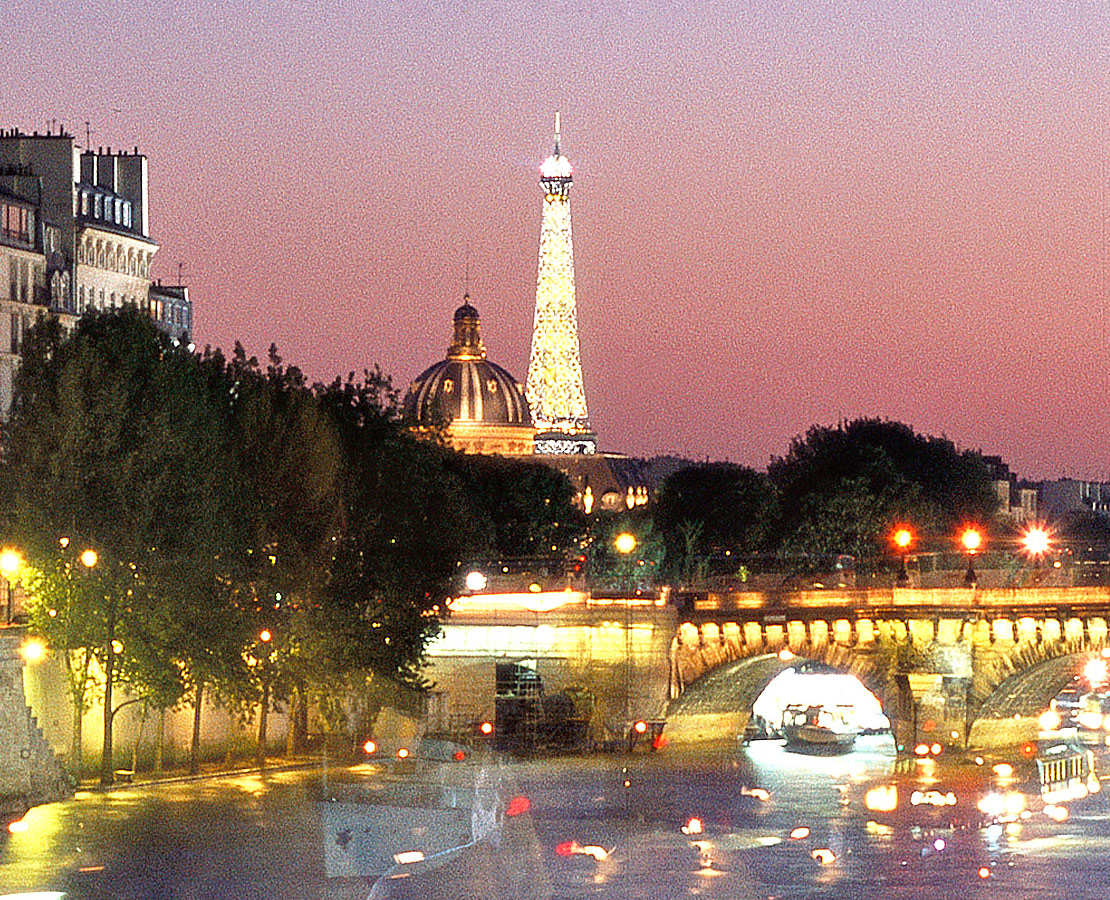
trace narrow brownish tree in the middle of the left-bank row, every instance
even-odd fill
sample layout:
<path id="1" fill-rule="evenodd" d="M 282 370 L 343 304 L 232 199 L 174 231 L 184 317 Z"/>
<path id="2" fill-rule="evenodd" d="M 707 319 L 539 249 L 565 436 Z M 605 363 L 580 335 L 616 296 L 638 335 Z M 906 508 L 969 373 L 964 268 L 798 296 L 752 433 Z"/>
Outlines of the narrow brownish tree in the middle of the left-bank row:
<path id="1" fill-rule="evenodd" d="M 222 361 L 218 360 L 218 364 Z M 339 435 L 323 403 L 295 366 L 270 347 L 263 370 L 236 344 L 223 377 L 231 398 L 246 559 L 233 591 L 244 616 L 250 686 L 210 681 L 225 704 L 259 702 L 258 758 L 265 760 L 272 697 L 293 704 L 291 749 L 306 729 L 305 685 L 314 677 L 311 610 L 340 527 Z M 261 640 L 263 633 L 269 640 Z M 242 658 L 242 655 L 241 655 Z M 194 738 L 195 741 L 195 738 Z"/>

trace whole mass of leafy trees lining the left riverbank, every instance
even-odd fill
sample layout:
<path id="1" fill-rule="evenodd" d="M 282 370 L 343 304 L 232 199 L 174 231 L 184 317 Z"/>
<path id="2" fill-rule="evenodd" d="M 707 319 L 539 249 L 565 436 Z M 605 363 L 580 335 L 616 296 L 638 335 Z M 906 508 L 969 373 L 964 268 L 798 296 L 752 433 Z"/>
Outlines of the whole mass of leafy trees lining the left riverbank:
<path id="1" fill-rule="evenodd" d="M 105 780 L 120 681 L 162 708 L 289 697 L 302 718 L 336 687 L 418 685 L 461 560 L 494 546 L 492 507 L 450 451 L 408 435 L 380 372 L 313 386 L 273 348 L 265 366 L 192 353 L 131 309 L 31 331 L 6 451 L 33 625 L 78 715 L 103 692 Z"/>

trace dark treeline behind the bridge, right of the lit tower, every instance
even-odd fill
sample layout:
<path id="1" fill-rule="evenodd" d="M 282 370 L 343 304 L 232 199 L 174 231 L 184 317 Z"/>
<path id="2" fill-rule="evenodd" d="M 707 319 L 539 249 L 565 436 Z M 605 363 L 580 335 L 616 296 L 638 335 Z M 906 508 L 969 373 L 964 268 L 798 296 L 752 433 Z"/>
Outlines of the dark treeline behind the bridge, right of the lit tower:
<path id="1" fill-rule="evenodd" d="M 960 524 L 987 526 L 998 512 L 990 468 L 975 451 L 898 422 L 860 418 L 814 426 L 767 473 L 729 463 L 670 476 L 655 504 L 664 570 L 689 580 L 726 553 L 804 560 L 847 554 L 889 557 L 895 525 L 921 547 L 951 546 Z"/>

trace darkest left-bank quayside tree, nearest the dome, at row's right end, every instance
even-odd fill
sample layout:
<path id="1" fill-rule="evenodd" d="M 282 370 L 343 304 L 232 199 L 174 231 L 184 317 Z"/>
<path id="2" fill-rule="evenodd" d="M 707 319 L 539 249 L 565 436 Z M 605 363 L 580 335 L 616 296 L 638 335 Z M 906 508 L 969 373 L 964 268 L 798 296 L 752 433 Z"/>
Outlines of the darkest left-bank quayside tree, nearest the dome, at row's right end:
<path id="1" fill-rule="evenodd" d="M 461 560 L 488 553 L 490 523 L 446 465 L 450 452 L 402 426 L 380 371 L 317 395 L 343 455 L 341 525 L 310 619 L 317 686 L 326 694 L 385 678 L 418 689 Z"/>

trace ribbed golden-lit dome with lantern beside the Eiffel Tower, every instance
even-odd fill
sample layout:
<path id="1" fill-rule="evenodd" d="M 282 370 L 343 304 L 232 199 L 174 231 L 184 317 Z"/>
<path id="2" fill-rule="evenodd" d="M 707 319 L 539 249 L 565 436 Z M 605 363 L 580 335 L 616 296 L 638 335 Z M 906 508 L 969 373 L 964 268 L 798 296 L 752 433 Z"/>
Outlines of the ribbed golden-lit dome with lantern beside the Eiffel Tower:
<path id="1" fill-rule="evenodd" d="M 404 418 L 417 432 L 446 423 L 447 443 L 465 453 L 532 455 L 535 428 L 524 388 L 486 358 L 478 311 L 468 294 L 455 310 L 447 358 L 408 386 Z"/>

